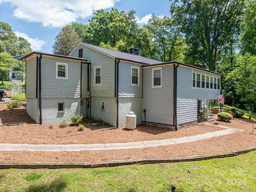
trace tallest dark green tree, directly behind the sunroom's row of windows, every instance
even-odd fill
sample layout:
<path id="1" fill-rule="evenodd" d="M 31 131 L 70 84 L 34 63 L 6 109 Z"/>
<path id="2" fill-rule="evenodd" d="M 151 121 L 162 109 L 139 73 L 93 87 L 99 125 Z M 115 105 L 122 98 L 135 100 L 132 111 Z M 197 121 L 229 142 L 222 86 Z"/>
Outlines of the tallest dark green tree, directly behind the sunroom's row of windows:
<path id="1" fill-rule="evenodd" d="M 237 33 L 243 10 L 243 0 L 175 0 L 171 18 L 185 34 L 187 60 L 215 70 L 219 55 Z"/>

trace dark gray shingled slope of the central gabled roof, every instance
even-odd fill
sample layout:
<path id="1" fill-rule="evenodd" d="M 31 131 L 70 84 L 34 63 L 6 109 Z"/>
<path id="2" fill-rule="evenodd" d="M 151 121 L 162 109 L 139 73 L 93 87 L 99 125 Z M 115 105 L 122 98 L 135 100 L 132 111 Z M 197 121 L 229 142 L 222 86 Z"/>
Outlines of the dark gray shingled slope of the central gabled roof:
<path id="1" fill-rule="evenodd" d="M 121 51 L 115 51 L 115 50 L 110 50 L 106 49 L 97 45 L 91 45 L 88 43 L 82 43 L 85 46 L 92 47 L 92 49 L 98 50 L 100 52 L 106 53 L 116 59 L 121 59 L 121 60 L 126 60 L 126 61 L 134 61 L 142 64 L 157 64 L 157 63 L 162 63 L 163 61 L 158 61 L 154 59 L 149 59 L 145 57 L 141 57 L 138 55 L 130 54 L 130 53 L 124 53 Z"/>

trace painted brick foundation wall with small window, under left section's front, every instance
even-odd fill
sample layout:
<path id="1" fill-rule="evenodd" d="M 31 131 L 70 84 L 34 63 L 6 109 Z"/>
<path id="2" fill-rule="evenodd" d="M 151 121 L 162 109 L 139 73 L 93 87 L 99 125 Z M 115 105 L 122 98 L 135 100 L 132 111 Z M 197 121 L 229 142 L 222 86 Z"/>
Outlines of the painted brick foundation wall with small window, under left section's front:
<path id="1" fill-rule="evenodd" d="M 58 111 L 58 103 L 64 103 L 64 112 Z M 71 122 L 71 115 L 80 113 L 80 98 L 42 99 L 42 123 L 60 123 L 62 119 Z"/>

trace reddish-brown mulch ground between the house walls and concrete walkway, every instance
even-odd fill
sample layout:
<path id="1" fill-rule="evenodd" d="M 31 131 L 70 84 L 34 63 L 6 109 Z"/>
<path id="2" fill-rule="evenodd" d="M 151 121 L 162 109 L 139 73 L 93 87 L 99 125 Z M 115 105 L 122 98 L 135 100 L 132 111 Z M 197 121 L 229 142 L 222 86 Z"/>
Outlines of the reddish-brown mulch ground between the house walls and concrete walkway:
<path id="1" fill-rule="evenodd" d="M 77 127 L 69 124 L 60 128 L 58 124 L 35 124 L 27 113 L 25 105 L 18 109 L 6 109 L 0 105 L 2 122 L 21 123 L 11 126 L 0 126 L 0 143 L 30 143 L 30 144 L 82 144 L 82 143 L 116 143 L 132 141 L 148 141 L 169 138 L 186 137 L 195 134 L 222 130 L 210 125 L 196 125 L 187 129 L 170 131 L 154 126 L 139 125 L 136 130 L 125 128 L 112 130 L 94 130 L 89 123 L 82 123 L 86 128 L 77 131 Z M 8 115 L 9 114 L 9 115 Z"/>

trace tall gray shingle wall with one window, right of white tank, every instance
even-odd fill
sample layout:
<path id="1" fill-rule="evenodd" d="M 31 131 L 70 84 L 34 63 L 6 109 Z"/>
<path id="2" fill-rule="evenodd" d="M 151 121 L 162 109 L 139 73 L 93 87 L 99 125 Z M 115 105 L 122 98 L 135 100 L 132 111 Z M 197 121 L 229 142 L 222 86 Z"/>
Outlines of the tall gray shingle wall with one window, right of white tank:
<path id="1" fill-rule="evenodd" d="M 173 124 L 173 65 L 162 66 L 162 87 L 152 87 L 153 68 L 143 68 L 142 110 L 146 121 Z M 145 121 L 142 113 L 142 121 Z"/>

